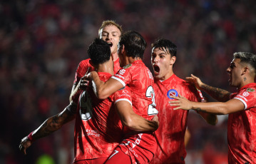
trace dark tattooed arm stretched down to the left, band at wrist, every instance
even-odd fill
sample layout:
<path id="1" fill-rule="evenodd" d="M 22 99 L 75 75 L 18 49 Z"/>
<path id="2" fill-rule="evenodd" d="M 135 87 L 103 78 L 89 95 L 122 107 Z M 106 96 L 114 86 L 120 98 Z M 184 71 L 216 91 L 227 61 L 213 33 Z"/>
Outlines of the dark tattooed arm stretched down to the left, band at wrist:
<path id="1" fill-rule="evenodd" d="M 19 149 L 26 155 L 26 149 L 29 148 L 35 140 L 43 138 L 61 128 L 62 125 L 72 121 L 76 116 L 76 104 L 69 104 L 61 113 L 52 116 L 44 121 L 39 128 L 31 132 L 21 140 Z"/>

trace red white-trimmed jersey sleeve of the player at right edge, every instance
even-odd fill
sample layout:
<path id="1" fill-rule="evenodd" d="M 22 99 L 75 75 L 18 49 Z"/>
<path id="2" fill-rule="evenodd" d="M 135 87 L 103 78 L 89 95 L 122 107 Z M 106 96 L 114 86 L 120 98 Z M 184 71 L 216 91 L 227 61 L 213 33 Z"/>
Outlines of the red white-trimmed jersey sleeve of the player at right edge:
<path id="1" fill-rule="evenodd" d="M 237 95 L 233 93 L 230 97 L 233 97 L 237 100 L 242 101 L 242 103 L 245 105 L 245 110 L 255 107 L 255 99 L 256 99 L 255 91 L 243 90 L 237 93 Z"/>

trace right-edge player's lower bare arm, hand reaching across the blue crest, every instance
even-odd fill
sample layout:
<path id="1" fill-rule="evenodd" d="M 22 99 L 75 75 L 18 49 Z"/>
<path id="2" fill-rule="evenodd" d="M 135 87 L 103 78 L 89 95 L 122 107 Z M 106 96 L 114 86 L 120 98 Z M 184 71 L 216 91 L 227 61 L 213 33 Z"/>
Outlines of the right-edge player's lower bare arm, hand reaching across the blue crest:
<path id="1" fill-rule="evenodd" d="M 190 110 L 193 109 L 199 112 L 205 113 L 213 113 L 217 115 L 225 115 L 230 113 L 235 113 L 237 111 L 242 111 L 245 109 L 245 105 L 242 101 L 232 98 L 230 101 L 227 102 L 211 102 L 211 103 L 198 103 L 188 101 L 188 99 L 184 98 L 183 96 L 175 97 L 170 96 L 171 98 L 175 98 L 176 101 L 170 101 L 170 106 L 178 106 L 173 108 L 174 110 L 184 109 Z"/>

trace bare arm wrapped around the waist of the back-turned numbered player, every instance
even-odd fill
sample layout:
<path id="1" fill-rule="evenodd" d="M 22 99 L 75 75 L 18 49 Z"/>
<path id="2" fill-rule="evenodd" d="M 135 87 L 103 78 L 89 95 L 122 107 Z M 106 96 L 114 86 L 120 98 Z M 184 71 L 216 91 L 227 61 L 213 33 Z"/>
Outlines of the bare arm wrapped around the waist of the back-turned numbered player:
<path id="1" fill-rule="evenodd" d="M 115 108 L 123 125 L 126 125 L 131 130 L 145 132 L 158 129 L 158 116 L 155 116 L 152 121 L 148 121 L 134 113 L 133 107 L 128 101 L 118 101 L 115 103 Z"/>

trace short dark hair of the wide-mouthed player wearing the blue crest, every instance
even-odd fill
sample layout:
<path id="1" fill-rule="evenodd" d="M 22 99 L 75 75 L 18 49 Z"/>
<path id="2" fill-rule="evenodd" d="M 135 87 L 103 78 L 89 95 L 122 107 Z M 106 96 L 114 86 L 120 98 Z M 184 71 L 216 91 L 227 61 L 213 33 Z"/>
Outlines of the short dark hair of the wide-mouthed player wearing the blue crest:
<path id="1" fill-rule="evenodd" d="M 167 50 L 170 53 L 170 56 L 176 56 L 177 53 L 177 46 L 175 43 L 168 39 L 158 39 L 154 43 L 151 44 L 152 48 L 160 48 L 160 50 L 165 51 Z"/>

